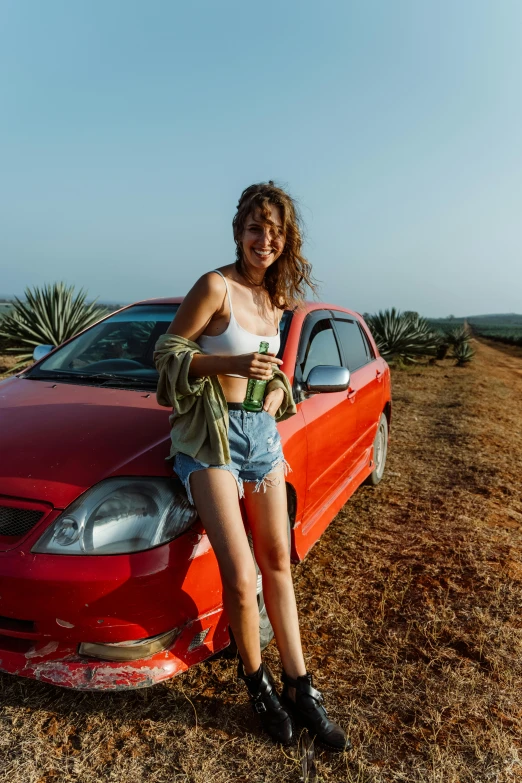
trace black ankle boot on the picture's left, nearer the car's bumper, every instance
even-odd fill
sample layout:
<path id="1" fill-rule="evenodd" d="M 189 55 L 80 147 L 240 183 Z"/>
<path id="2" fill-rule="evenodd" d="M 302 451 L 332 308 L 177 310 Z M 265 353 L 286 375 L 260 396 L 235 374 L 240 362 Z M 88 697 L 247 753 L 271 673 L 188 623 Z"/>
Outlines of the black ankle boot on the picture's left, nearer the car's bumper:
<path id="1" fill-rule="evenodd" d="M 261 664 L 260 671 L 248 676 L 240 660 L 237 676 L 245 681 L 252 708 L 265 731 L 276 742 L 291 745 L 294 739 L 292 719 L 279 701 L 270 669 Z"/>

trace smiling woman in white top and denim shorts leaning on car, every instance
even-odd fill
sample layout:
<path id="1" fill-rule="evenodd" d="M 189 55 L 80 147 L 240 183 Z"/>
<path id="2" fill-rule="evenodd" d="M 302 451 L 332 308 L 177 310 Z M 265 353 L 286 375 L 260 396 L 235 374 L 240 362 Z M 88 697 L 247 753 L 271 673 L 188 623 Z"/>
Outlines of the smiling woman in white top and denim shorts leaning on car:
<path id="1" fill-rule="evenodd" d="M 301 649 L 287 540 L 285 472 L 276 420 L 295 413 L 279 350 L 283 310 L 313 287 L 301 254 L 295 205 L 273 182 L 243 191 L 233 220 L 236 262 L 203 275 L 156 346 L 158 400 L 172 404 L 174 470 L 216 554 L 223 601 L 255 712 L 283 744 L 291 715 L 321 742 L 344 750 Z M 269 353 L 259 344 L 269 343 Z M 268 381 L 260 413 L 243 410 L 249 378 Z M 240 510 L 244 499 L 268 616 L 283 664 L 279 699 L 261 662 L 256 572 Z"/>

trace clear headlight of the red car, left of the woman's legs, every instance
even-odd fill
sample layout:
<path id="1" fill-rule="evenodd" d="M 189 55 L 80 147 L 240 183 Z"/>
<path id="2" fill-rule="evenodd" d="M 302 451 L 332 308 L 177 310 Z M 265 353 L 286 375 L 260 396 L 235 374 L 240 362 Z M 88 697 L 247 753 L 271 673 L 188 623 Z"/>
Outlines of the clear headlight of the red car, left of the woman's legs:
<path id="1" fill-rule="evenodd" d="M 175 479 L 111 478 L 87 490 L 45 531 L 33 552 L 116 555 L 181 535 L 197 512 Z"/>

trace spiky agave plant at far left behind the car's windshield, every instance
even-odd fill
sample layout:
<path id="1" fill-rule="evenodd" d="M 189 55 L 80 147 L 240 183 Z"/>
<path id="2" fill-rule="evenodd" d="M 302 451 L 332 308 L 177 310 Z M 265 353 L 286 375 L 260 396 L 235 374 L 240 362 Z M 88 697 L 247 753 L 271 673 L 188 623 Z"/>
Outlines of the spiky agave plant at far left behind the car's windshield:
<path id="1" fill-rule="evenodd" d="M 83 289 L 75 294 L 74 286 L 54 283 L 26 288 L 25 301 L 15 297 L 12 309 L 0 319 L 0 337 L 14 343 L 5 350 L 19 357 L 13 369 L 31 360 L 36 345 L 60 345 L 105 315 L 96 301 L 85 303 L 86 295 Z"/>

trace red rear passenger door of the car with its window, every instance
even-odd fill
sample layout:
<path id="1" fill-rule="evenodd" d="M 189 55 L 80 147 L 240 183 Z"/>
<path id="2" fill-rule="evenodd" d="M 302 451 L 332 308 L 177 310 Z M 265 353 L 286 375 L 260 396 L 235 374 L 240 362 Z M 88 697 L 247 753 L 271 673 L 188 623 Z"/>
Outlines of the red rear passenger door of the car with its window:
<path id="1" fill-rule="evenodd" d="M 334 316 L 343 362 L 350 370 L 350 393 L 357 411 L 354 458 L 358 465 L 368 457 L 383 410 L 383 371 L 359 320 L 337 311 Z"/>

